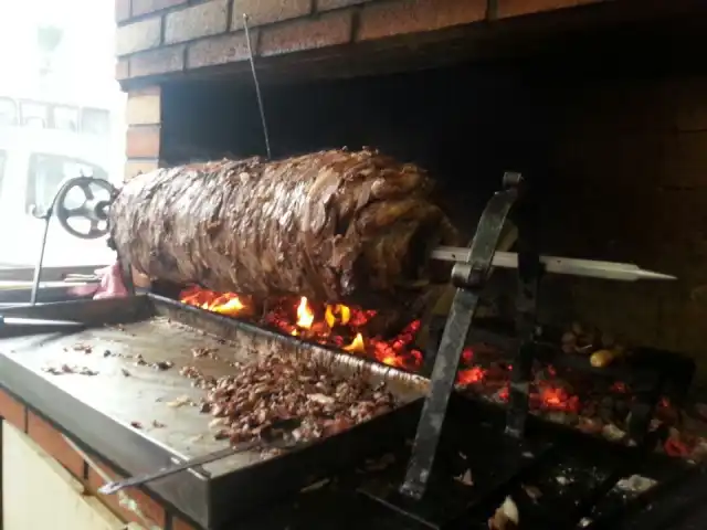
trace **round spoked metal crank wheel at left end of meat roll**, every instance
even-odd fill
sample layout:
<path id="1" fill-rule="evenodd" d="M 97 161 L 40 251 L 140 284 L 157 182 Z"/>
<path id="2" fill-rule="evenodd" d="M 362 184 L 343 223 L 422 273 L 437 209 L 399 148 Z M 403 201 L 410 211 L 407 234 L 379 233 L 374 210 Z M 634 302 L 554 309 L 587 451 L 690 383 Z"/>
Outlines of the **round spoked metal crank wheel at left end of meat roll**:
<path id="1" fill-rule="evenodd" d="M 74 190 L 83 193 L 84 200 L 80 206 L 68 208 L 66 200 Z M 108 192 L 108 200 L 97 199 L 99 190 Z M 110 182 L 93 177 L 76 177 L 62 186 L 55 199 L 55 215 L 62 227 L 70 234 L 81 240 L 96 240 L 108 233 L 108 206 L 116 194 L 116 189 Z M 87 220 L 91 225 L 87 232 L 76 230 L 68 222 L 72 219 Z M 103 226 L 102 226 L 103 225 Z"/>

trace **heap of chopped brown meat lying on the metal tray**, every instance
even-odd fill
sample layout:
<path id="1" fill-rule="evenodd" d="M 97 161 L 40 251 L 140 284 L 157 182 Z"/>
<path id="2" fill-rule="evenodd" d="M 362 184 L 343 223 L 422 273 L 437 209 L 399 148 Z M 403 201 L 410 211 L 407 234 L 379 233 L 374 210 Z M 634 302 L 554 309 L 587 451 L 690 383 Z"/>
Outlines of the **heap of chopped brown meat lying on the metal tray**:
<path id="1" fill-rule="evenodd" d="M 214 416 L 214 436 L 233 444 L 255 439 L 263 428 L 287 420 L 298 421 L 295 441 L 313 441 L 395 406 L 393 395 L 383 385 L 371 385 L 365 372 L 337 375 L 321 361 L 293 356 L 272 354 L 219 379 L 203 377 L 193 367 L 181 373 L 207 390 L 201 410 Z"/>

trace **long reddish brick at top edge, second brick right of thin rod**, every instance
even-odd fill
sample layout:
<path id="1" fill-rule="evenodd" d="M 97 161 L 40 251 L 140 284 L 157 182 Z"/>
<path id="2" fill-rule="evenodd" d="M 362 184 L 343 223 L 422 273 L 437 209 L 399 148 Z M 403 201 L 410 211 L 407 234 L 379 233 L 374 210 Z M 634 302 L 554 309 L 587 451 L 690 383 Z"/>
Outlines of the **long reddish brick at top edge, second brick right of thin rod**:
<path id="1" fill-rule="evenodd" d="M 399 0 L 363 6 L 358 39 L 381 39 L 478 22 L 486 0 Z"/>

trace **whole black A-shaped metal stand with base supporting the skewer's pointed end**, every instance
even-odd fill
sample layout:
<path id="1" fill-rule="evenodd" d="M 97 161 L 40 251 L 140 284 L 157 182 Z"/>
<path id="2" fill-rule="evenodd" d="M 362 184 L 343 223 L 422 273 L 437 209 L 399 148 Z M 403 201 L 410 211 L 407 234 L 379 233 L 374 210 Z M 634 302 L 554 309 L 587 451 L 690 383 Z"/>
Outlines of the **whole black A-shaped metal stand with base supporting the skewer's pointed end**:
<path id="1" fill-rule="evenodd" d="M 548 448 L 524 437 L 535 359 L 537 295 L 544 269 L 537 247 L 536 210 L 519 173 L 507 172 L 503 186 L 504 190 L 497 192 L 486 204 L 467 261 L 457 263 L 452 271 L 452 283 L 457 290 L 434 357 L 430 392 L 422 407 L 402 486 L 397 491 L 390 488 L 381 489 L 376 485 L 361 489 L 368 497 L 430 528 L 444 528 L 450 522 L 458 520 L 505 480 L 532 465 L 535 458 Z M 489 444 L 495 445 L 496 452 L 503 455 L 503 462 L 498 473 L 488 484 L 468 491 L 460 491 L 444 477 L 433 477 L 435 458 L 440 453 L 440 442 L 462 351 L 473 328 L 502 230 L 510 216 L 518 227 L 518 339 L 515 342 L 517 353 L 509 388 L 506 436 L 498 439 L 493 433 L 481 432 L 472 436 L 475 438 L 472 444 L 477 445 L 477 449 L 483 452 L 487 452 L 488 447 L 481 448 L 481 445 L 484 445 L 479 442 L 481 438 L 490 441 Z"/>

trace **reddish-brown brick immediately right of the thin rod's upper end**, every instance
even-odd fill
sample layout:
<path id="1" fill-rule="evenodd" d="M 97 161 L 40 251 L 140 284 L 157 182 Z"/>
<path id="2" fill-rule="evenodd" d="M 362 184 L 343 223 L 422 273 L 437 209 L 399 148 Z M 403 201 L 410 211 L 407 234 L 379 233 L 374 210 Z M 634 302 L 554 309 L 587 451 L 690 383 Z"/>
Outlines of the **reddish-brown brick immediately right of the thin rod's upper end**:
<path id="1" fill-rule="evenodd" d="M 346 44 L 351 41 L 351 23 L 350 11 L 337 11 L 314 19 L 293 20 L 264 28 L 260 54 L 277 55 Z"/>

